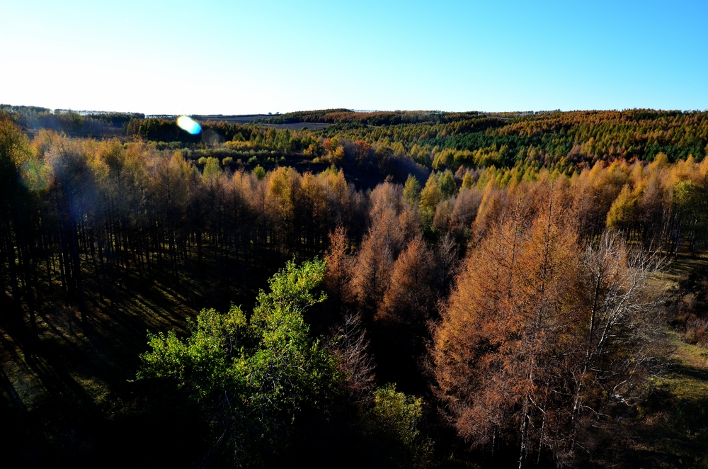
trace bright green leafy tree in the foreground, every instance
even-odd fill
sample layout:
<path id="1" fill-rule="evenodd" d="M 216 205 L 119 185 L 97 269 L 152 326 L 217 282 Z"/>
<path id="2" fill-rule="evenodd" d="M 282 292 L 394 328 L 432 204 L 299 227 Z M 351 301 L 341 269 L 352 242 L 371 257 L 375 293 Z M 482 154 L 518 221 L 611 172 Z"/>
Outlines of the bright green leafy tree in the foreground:
<path id="1" fill-rule="evenodd" d="M 336 378 L 333 359 L 309 338 L 304 310 L 323 301 L 314 295 L 325 262 L 288 262 L 261 290 L 250 319 L 239 307 L 225 314 L 202 310 L 192 334 L 149 334 L 139 379 L 162 378 L 208 412 L 217 444 L 234 462 L 258 460 L 277 450 L 304 407 L 318 407 Z"/>

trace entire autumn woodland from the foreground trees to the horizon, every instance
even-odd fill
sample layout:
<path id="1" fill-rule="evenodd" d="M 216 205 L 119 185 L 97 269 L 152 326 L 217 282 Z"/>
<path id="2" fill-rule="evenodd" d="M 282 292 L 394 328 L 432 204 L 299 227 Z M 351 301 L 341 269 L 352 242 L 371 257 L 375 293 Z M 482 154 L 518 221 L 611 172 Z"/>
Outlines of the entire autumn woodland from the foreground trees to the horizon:
<path id="1" fill-rule="evenodd" d="M 675 338 L 708 343 L 708 113 L 336 109 L 190 135 L 0 111 L 17 465 L 678 464 L 641 450 L 661 419 L 708 443 L 657 381 Z M 101 357 L 100 399 L 59 392 L 57 353 Z"/>

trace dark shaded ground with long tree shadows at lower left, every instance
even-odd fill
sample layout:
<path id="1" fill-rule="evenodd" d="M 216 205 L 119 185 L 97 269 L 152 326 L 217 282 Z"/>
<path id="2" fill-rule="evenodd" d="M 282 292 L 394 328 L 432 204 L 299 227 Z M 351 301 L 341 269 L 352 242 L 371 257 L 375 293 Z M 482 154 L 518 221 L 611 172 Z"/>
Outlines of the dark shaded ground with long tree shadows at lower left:
<path id="1" fill-rule="evenodd" d="M 203 269 L 178 282 L 169 273 L 141 279 L 124 272 L 103 295 L 89 280 L 86 330 L 60 286 L 45 285 L 37 339 L 0 329 L 0 421 L 11 429 L 0 439 L 4 462 L 189 467 L 208 449 L 198 415 L 131 382 L 147 331 L 184 333 L 202 307 L 249 307 L 276 269 Z"/>

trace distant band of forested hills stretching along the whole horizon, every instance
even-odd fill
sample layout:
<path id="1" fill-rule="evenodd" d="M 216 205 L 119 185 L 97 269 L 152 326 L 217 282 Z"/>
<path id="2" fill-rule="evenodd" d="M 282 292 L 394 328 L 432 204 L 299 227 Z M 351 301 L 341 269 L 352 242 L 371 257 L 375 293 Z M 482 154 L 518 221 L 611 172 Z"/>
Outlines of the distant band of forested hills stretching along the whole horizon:
<path id="1" fill-rule="evenodd" d="M 361 141 L 375 149 L 390 148 L 397 156 L 428 169 L 452 171 L 459 166 L 501 168 L 526 162 L 544 166 L 561 164 L 564 169 L 580 170 L 598 160 L 652 161 L 659 153 L 675 162 L 691 155 L 702 159 L 708 147 L 708 113 L 700 111 L 447 113 L 326 109 L 274 115 L 246 125 L 207 121 L 202 123 L 205 128 L 202 135 L 181 130 L 173 118 L 146 119 L 136 113 L 79 114 L 7 105 L 1 105 L 0 111 L 13 115 L 19 125 L 32 132 L 45 128 L 72 136 L 180 142 L 192 148 L 254 142 L 261 135 L 262 141 L 256 142 L 262 144 L 261 149 L 316 157 L 317 144 L 328 138 Z M 285 130 L 263 127 L 263 124 L 285 123 L 331 125 L 285 136 L 281 135 Z M 268 132 L 275 134 L 266 135 Z M 313 144 L 315 147 L 311 147 Z"/>

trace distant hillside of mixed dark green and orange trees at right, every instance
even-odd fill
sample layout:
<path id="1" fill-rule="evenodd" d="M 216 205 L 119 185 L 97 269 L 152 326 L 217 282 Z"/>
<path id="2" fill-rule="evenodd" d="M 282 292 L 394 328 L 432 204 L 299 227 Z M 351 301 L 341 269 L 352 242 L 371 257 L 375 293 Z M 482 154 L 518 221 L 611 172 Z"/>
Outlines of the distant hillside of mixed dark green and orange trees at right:
<path id="1" fill-rule="evenodd" d="M 436 154 L 505 151 L 491 161 L 475 162 L 462 154 L 451 159 L 453 169 L 466 166 L 514 166 L 527 159 L 569 166 L 592 164 L 598 159 L 651 161 L 663 152 L 670 161 L 690 155 L 702 158 L 708 145 L 708 113 L 700 111 L 578 111 L 543 113 L 513 118 L 467 117 L 449 123 L 401 123 L 369 128 L 361 124 L 331 126 L 324 137 L 364 140 L 370 145 L 402 145 L 413 159 L 420 148 L 423 164 Z M 427 163 L 426 163 L 427 160 Z"/>

